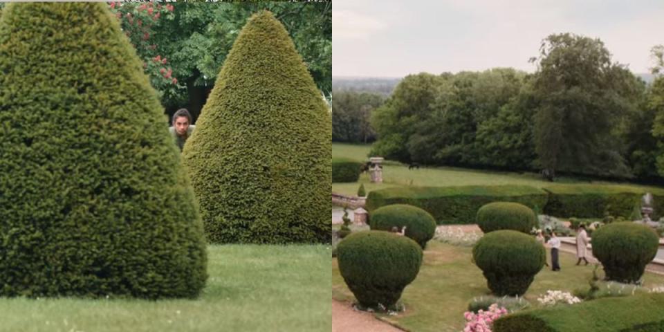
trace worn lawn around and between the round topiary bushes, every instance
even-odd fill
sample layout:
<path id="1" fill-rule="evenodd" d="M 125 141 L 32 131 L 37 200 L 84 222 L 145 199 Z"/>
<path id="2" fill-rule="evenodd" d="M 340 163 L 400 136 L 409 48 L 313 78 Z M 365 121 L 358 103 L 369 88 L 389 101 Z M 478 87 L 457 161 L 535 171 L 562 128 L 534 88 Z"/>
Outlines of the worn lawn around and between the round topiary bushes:
<path id="1" fill-rule="evenodd" d="M 452 246 L 438 241 L 427 243 L 424 261 L 415 281 L 405 288 L 401 300 L 405 313 L 383 316 L 385 320 L 406 329 L 418 332 L 461 331 L 465 324 L 463 312 L 473 297 L 488 295 L 481 270 L 471 262 L 470 247 Z M 551 261 L 551 257 L 547 257 Z M 525 297 L 532 306 L 537 306 L 537 297 L 547 290 L 572 292 L 575 288 L 587 288 L 593 267 L 574 266 L 574 255 L 560 254 L 562 271 L 552 272 L 544 267 L 528 288 Z M 355 298 L 341 277 L 336 259 L 333 259 L 332 296 L 345 302 Z M 601 269 L 598 275 L 603 278 Z M 644 286 L 664 284 L 664 276 L 646 273 Z"/>

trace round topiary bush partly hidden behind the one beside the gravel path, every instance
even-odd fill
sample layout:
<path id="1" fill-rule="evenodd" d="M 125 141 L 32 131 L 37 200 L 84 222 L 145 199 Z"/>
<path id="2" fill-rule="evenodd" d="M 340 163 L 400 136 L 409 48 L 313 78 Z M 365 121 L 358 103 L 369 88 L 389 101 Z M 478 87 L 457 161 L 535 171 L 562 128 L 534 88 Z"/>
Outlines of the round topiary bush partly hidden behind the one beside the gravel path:
<path id="1" fill-rule="evenodd" d="M 393 227 L 401 230 L 405 226 L 405 236 L 416 241 L 423 249 L 436 233 L 434 217 L 421 208 L 407 204 L 386 205 L 376 209 L 371 214 L 369 225 L 372 230 L 387 231 Z"/>

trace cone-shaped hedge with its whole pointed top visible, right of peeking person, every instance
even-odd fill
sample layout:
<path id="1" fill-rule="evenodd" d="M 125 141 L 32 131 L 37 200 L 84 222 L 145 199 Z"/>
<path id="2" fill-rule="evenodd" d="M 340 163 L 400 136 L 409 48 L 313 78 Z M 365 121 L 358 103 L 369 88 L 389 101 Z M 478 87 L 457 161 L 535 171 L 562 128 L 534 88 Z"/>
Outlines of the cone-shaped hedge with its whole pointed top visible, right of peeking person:
<path id="1" fill-rule="evenodd" d="M 213 243 L 327 241 L 331 116 L 284 26 L 253 15 L 183 158 Z"/>

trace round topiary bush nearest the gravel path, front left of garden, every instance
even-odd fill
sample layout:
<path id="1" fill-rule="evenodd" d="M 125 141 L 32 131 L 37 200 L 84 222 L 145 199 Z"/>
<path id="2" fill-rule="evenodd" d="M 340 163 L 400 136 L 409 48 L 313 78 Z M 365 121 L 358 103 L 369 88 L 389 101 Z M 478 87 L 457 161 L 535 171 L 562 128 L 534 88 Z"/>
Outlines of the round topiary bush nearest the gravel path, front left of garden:
<path id="1" fill-rule="evenodd" d="M 391 308 L 420 270 L 415 241 L 390 232 L 355 232 L 337 246 L 339 271 L 362 306 Z"/>

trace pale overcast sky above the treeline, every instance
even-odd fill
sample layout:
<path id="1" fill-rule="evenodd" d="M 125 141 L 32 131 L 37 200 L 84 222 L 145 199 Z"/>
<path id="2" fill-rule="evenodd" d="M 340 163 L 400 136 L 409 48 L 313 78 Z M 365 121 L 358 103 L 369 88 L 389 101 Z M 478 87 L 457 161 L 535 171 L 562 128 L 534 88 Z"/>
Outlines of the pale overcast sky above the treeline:
<path id="1" fill-rule="evenodd" d="M 553 33 L 599 38 L 634 73 L 664 44 L 664 0 L 335 0 L 332 75 L 528 72 Z"/>

